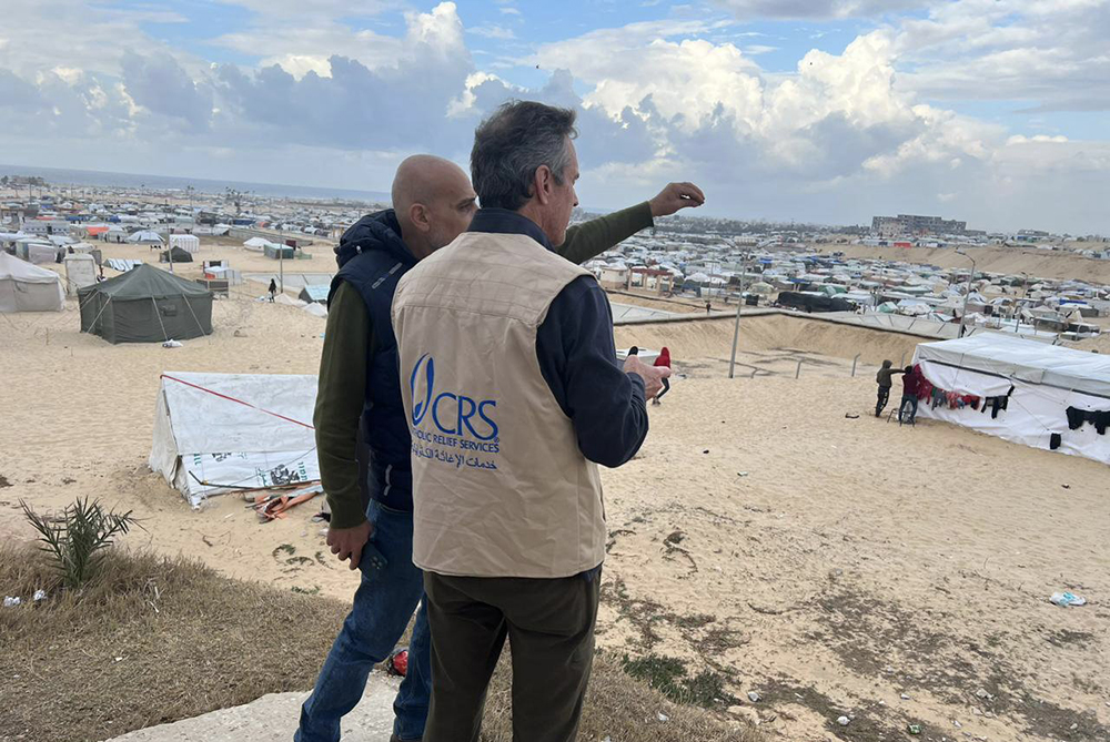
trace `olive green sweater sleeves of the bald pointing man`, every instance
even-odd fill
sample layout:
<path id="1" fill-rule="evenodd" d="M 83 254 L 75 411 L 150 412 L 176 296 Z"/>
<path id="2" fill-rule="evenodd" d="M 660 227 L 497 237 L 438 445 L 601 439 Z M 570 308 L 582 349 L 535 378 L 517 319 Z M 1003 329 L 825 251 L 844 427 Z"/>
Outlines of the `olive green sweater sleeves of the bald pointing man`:
<path id="1" fill-rule="evenodd" d="M 555 252 L 574 263 L 585 263 L 653 224 L 652 209 L 645 202 L 569 227 Z M 366 519 L 356 449 L 366 394 L 366 357 L 373 343 L 366 305 L 356 289 L 340 284 L 327 306 L 313 414 L 316 458 L 332 528 L 354 528 Z"/>

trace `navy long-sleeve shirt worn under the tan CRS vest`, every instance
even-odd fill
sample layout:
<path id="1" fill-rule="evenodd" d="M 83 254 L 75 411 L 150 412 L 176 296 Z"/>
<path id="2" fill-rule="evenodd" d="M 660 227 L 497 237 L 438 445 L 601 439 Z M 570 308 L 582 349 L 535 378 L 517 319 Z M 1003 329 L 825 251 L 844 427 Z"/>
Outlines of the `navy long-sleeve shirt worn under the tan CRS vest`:
<path id="1" fill-rule="evenodd" d="M 470 231 L 524 234 L 552 250 L 535 222 L 505 209 L 480 210 Z M 608 467 L 635 456 L 648 429 L 644 380 L 617 360 L 609 301 L 593 276 L 575 278 L 552 302 L 536 356 L 583 456 Z"/>

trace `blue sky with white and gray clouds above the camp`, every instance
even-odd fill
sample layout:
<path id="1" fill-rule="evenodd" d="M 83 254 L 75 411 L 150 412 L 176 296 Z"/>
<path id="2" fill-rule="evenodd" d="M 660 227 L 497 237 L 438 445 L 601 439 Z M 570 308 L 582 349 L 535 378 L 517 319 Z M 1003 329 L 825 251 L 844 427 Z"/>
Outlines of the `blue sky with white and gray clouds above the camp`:
<path id="1" fill-rule="evenodd" d="M 1110 0 L 3 0 L 10 164 L 389 191 L 508 99 L 584 206 L 1110 234 Z"/>

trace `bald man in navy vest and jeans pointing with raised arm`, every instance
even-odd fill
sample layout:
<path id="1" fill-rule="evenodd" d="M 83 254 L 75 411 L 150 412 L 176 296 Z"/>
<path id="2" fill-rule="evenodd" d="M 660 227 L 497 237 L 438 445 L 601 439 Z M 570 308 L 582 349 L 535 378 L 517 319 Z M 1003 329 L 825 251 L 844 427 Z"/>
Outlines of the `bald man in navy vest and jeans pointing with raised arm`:
<path id="1" fill-rule="evenodd" d="M 340 721 L 362 698 L 366 678 L 390 655 L 420 604 L 407 674 L 394 701 L 394 742 L 424 734 L 431 695 L 423 575 L 412 561 L 412 439 L 401 403 L 390 307 L 397 281 L 446 246 L 477 211 L 466 174 L 432 155 L 408 157 L 393 182 L 393 209 L 361 218 L 335 250 L 340 272 L 327 297 L 314 424 L 320 474 L 331 508 L 327 543 L 362 571 L 354 604 L 301 709 L 296 742 L 335 742 Z M 646 203 L 567 230 L 555 252 L 582 263 L 704 201 L 689 183 L 672 183 Z M 370 450 L 360 482 L 360 433 Z M 361 494 L 369 490 L 369 507 Z"/>

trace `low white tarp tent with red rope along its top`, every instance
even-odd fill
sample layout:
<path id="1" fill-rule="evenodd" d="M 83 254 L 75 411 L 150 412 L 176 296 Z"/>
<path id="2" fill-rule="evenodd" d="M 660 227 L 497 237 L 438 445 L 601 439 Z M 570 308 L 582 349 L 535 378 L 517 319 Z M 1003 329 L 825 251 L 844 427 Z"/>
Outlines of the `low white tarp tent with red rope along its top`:
<path id="1" fill-rule="evenodd" d="M 320 479 L 315 376 L 167 372 L 150 468 L 195 507 L 231 489 Z"/>

